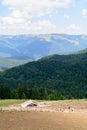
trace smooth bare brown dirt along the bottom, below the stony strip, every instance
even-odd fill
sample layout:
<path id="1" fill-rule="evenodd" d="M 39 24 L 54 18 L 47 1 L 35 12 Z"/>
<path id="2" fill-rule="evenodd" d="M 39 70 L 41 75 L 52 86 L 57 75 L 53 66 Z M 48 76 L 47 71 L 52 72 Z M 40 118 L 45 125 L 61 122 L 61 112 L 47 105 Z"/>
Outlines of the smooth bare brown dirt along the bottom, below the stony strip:
<path id="1" fill-rule="evenodd" d="M 4 111 L 0 130 L 87 130 L 87 114 Z"/>

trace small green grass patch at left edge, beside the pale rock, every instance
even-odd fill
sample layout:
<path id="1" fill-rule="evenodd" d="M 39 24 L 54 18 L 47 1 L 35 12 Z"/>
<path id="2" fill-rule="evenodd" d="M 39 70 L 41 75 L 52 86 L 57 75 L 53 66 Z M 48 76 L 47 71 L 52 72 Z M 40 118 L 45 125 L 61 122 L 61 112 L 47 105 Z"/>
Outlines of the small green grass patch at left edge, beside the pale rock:
<path id="1" fill-rule="evenodd" d="M 21 104 L 23 103 L 25 100 L 0 100 L 0 107 L 8 107 L 10 105 L 14 105 L 14 104 Z"/>

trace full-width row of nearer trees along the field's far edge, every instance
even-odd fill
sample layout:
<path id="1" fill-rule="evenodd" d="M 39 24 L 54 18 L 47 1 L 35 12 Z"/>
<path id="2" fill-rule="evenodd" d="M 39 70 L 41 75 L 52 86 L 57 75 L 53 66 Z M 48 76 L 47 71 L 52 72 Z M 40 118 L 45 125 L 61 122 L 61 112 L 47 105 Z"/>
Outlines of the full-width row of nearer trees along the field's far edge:
<path id="1" fill-rule="evenodd" d="M 6 84 L 0 85 L 0 99 L 37 99 L 37 100 L 64 100 L 64 99 L 80 99 L 87 98 L 87 92 L 69 92 L 58 91 L 57 89 L 27 87 L 18 85 L 13 89 Z"/>

